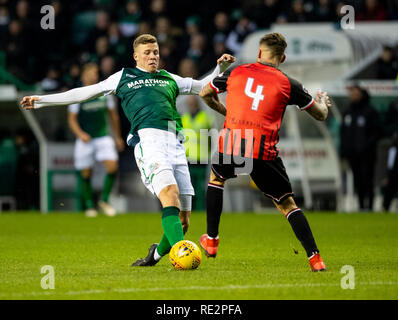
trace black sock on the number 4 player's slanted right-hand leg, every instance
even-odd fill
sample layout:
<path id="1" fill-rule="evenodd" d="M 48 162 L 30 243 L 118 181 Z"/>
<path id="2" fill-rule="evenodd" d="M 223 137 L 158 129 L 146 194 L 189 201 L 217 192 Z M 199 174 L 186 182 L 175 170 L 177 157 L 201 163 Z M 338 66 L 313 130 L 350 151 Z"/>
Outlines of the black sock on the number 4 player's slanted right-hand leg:
<path id="1" fill-rule="evenodd" d="M 300 209 L 294 209 L 288 213 L 287 220 L 292 226 L 297 239 L 300 240 L 304 247 L 307 256 L 311 257 L 314 253 L 318 253 L 319 250 L 304 213 Z"/>

